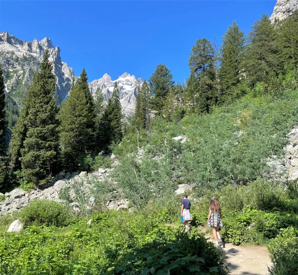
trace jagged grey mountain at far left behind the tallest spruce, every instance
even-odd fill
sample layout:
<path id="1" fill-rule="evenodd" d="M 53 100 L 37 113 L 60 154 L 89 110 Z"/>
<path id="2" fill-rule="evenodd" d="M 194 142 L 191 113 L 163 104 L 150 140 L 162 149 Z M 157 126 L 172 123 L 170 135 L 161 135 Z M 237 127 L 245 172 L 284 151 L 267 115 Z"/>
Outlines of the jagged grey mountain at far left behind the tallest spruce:
<path id="1" fill-rule="evenodd" d="M 69 92 L 74 73 L 67 63 L 61 61 L 59 47 L 54 47 L 47 37 L 28 42 L 19 40 L 8 32 L 0 32 L 0 62 L 4 68 L 4 81 L 7 92 L 18 106 L 21 105 L 27 87 L 32 84 L 34 73 L 39 70 L 46 49 L 53 62 L 53 73 L 57 76 L 56 93 L 60 103 Z"/>

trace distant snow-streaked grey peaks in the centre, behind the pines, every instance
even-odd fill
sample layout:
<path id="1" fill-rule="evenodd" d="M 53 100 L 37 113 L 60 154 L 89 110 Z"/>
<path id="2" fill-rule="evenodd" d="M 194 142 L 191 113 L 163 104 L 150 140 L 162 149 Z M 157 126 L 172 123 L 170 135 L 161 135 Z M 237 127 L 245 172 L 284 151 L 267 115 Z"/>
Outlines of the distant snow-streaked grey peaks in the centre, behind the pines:
<path id="1" fill-rule="evenodd" d="M 120 103 L 124 114 L 126 116 L 133 115 L 136 105 L 136 90 L 139 84 L 142 85 L 141 78 L 136 79 L 135 76 L 124 73 L 118 79 L 112 80 L 111 76 L 105 74 L 102 78 L 90 82 L 90 91 L 94 95 L 97 90 L 101 90 L 107 101 L 114 91 L 115 82 L 119 88 Z"/>

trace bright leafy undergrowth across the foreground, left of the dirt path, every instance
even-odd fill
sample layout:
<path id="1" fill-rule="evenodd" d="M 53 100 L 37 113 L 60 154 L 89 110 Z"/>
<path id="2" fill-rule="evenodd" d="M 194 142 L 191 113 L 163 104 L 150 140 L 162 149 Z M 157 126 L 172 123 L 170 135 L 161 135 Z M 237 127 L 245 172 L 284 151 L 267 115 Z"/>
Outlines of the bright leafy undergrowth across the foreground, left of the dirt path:
<path id="1" fill-rule="evenodd" d="M 91 225 L 76 218 L 62 227 L 3 230 L 0 274 L 226 274 L 204 235 L 164 225 L 179 219 L 166 209 L 111 211 L 90 219 Z"/>

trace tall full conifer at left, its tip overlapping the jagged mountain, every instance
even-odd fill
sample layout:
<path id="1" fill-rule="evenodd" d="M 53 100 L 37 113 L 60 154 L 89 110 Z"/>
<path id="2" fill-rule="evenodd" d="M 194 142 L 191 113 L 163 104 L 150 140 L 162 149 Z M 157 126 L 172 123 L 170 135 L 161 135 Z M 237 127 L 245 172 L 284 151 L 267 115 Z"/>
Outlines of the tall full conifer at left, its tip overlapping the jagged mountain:
<path id="1" fill-rule="evenodd" d="M 39 188 L 39 181 L 55 171 L 59 157 L 58 108 L 55 102 L 55 76 L 46 51 L 41 70 L 28 89 L 30 107 L 25 124 L 27 136 L 21 149 L 24 179 Z"/>

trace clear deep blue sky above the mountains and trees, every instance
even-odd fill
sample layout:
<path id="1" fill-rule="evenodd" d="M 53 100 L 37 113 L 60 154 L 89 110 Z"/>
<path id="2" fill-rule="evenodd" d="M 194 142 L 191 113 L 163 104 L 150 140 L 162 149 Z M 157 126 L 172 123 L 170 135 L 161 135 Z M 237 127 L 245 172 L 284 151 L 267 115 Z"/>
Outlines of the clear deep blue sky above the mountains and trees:
<path id="1" fill-rule="evenodd" d="M 21 40 L 49 37 L 63 62 L 89 81 L 124 72 L 148 79 L 157 64 L 175 81 L 189 76 L 199 38 L 221 37 L 233 20 L 247 33 L 276 0 L 234 1 L 3 1 L 0 31 Z"/>

